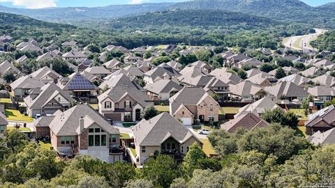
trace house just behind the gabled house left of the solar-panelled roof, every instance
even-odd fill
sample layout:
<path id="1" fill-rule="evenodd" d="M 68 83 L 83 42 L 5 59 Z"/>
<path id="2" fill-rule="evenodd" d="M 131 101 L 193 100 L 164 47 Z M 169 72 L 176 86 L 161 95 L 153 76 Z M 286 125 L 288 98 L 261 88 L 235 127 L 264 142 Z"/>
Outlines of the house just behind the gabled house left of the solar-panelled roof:
<path id="1" fill-rule="evenodd" d="M 14 96 L 27 96 L 29 90 L 42 88 L 45 84 L 31 75 L 20 77 L 10 84 Z"/>

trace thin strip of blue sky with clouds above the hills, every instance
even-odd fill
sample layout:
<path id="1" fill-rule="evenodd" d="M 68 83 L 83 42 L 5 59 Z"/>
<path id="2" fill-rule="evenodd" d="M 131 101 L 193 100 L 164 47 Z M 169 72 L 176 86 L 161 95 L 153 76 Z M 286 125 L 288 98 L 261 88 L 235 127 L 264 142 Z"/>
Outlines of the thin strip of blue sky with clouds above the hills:
<path id="1" fill-rule="evenodd" d="M 137 4 L 158 2 L 180 2 L 187 0 L 0 0 L 1 6 L 20 8 L 46 8 L 46 7 L 69 7 L 69 6 L 108 6 L 115 4 Z M 271 0 L 269 0 L 271 1 Z M 320 6 L 324 3 L 335 2 L 335 0 L 301 0 L 311 6 Z"/>

